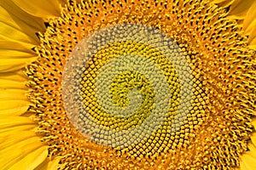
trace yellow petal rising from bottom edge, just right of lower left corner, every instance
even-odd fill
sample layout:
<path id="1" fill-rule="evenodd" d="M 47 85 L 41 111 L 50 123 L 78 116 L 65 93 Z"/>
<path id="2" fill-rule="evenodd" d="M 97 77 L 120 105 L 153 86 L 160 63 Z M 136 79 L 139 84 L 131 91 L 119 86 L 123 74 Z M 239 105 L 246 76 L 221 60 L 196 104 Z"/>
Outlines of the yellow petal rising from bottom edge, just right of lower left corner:
<path id="1" fill-rule="evenodd" d="M 15 162 L 14 165 L 9 169 L 34 169 L 35 167 L 38 167 L 38 165 L 47 158 L 47 155 L 47 147 L 41 147 L 38 150 L 34 150 L 32 153 L 29 153 L 20 161 Z"/>

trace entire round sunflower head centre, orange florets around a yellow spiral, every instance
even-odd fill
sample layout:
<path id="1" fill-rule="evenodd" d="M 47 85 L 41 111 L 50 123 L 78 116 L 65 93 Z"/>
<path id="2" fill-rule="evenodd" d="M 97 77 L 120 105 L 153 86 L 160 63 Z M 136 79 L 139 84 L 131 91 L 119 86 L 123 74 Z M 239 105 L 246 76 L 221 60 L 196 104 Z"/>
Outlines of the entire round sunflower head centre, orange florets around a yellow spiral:
<path id="1" fill-rule="evenodd" d="M 223 8 L 193 0 L 69 1 L 61 17 L 50 18 L 47 31 L 38 33 L 38 60 L 26 68 L 29 111 L 49 145 L 49 159 L 61 157 L 61 169 L 239 167 L 253 132 L 255 52 L 225 16 Z M 70 96 L 62 96 L 62 81 L 76 47 L 96 31 L 124 24 L 135 27 L 108 36 L 123 41 L 103 46 L 71 71 L 78 86 L 68 92 L 79 91 L 84 110 L 69 115 L 64 105 L 73 105 L 64 102 Z M 138 25 L 162 32 L 172 44 L 158 43 L 162 37 L 154 34 L 142 42 Z M 93 47 L 108 42 L 104 35 Z M 161 76 L 150 77 L 150 71 Z M 155 122 L 160 124 L 148 133 Z"/>

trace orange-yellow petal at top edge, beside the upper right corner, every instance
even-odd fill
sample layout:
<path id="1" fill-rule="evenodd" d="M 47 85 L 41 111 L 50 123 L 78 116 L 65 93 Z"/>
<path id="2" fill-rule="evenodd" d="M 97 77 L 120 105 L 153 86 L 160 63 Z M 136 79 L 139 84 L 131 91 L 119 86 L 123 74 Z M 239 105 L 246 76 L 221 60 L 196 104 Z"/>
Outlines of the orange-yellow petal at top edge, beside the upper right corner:
<path id="1" fill-rule="evenodd" d="M 255 0 L 236 0 L 230 6 L 230 15 L 236 19 L 244 19 L 247 10 L 253 5 Z"/>

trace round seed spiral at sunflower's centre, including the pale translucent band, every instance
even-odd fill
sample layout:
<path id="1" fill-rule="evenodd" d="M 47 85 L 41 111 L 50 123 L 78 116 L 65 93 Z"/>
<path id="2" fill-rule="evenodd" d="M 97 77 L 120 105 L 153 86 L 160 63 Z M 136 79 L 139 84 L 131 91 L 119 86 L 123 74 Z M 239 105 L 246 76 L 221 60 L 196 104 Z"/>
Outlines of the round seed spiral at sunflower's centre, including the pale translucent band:
<path id="1" fill-rule="evenodd" d="M 192 81 L 189 64 L 170 37 L 153 27 L 124 24 L 79 42 L 65 66 L 62 92 L 67 115 L 80 132 L 127 150 L 161 128 L 172 134 L 179 130 L 189 113 Z M 118 100 L 123 104 L 113 102 Z"/>

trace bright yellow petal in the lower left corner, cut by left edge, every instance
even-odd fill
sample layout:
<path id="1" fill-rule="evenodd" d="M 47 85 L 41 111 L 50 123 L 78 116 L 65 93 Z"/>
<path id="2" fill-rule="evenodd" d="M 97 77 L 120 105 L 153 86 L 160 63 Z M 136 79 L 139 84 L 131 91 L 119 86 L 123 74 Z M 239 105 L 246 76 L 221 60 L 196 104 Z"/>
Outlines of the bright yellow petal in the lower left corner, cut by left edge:
<path id="1" fill-rule="evenodd" d="M 24 161 L 24 159 L 26 159 L 26 156 L 33 153 L 35 150 L 40 149 L 42 146 L 43 146 L 43 143 L 40 142 L 40 138 L 32 137 L 32 138 L 24 139 L 16 144 L 12 144 L 11 146 L 4 148 L 3 150 L 0 150 L 1 168 L 9 169 L 13 165 L 15 165 L 16 162 L 19 162 L 22 160 Z M 27 161 L 32 161 L 32 160 L 28 159 Z M 26 166 L 28 166 L 32 162 L 24 162 L 24 163 L 26 164 Z"/>

